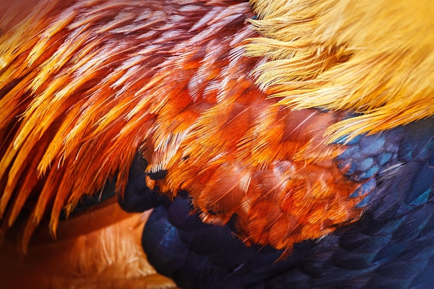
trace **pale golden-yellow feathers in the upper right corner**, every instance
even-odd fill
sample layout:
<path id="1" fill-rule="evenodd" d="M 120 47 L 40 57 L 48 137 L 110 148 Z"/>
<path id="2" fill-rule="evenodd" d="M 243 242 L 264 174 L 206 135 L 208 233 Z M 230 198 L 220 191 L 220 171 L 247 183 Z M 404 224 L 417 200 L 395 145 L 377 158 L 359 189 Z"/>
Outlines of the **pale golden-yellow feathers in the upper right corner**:
<path id="1" fill-rule="evenodd" d="M 429 0 L 252 1 L 266 56 L 257 82 L 295 109 L 360 114 L 331 125 L 328 141 L 381 132 L 434 114 L 434 4 Z"/>

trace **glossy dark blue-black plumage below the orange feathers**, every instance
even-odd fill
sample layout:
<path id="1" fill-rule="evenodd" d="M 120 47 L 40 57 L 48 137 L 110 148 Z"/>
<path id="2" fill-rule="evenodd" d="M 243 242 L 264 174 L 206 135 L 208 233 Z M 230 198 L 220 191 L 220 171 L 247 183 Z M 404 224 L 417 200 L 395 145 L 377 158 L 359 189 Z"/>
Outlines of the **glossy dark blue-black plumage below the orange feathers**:
<path id="1" fill-rule="evenodd" d="M 433 118 L 351 141 L 340 157 L 349 177 L 377 175 L 363 218 L 295 245 L 284 261 L 275 262 L 282 251 L 245 247 L 230 224 L 202 224 L 185 196 L 153 211 L 142 243 L 184 288 L 433 288 L 433 161 Z"/>

